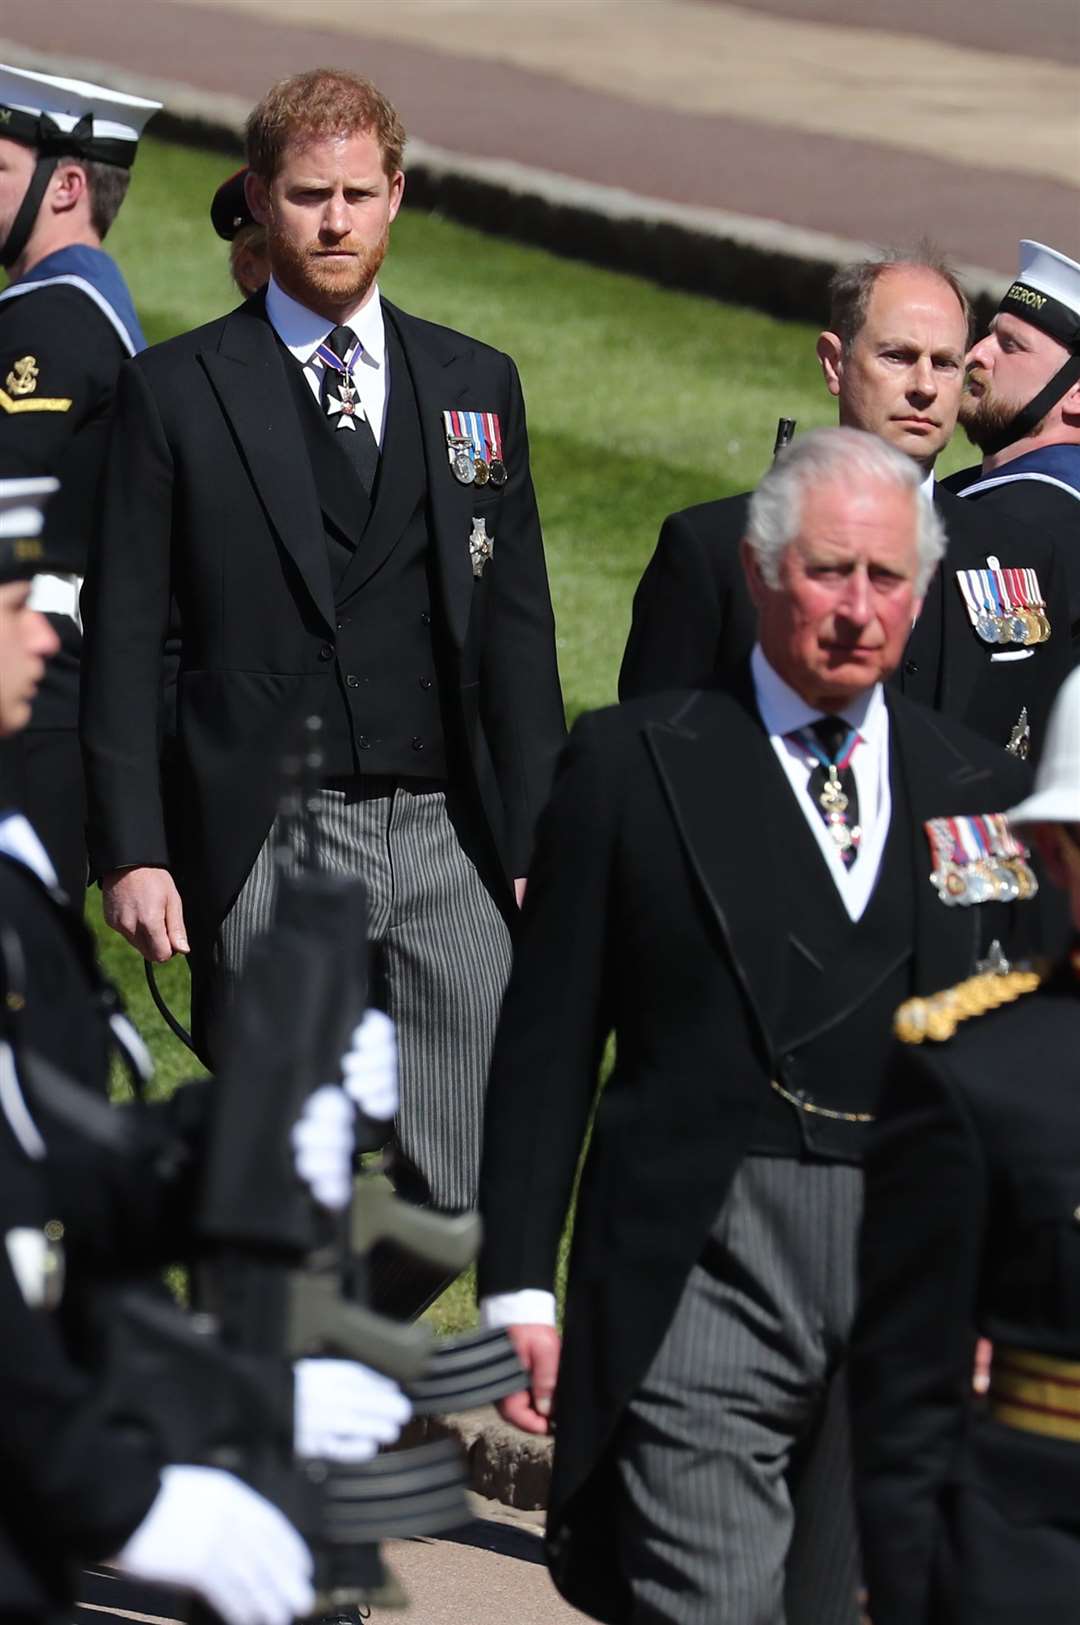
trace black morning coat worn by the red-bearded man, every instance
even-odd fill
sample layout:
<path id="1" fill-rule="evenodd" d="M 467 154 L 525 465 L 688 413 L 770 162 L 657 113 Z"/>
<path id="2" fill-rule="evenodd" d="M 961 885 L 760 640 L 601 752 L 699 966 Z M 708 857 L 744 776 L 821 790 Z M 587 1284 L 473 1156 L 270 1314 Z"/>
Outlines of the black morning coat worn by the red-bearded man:
<path id="1" fill-rule="evenodd" d="M 421 418 L 458 834 L 512 916 L 510 881 L 528 869 L 565 738 L 521 388 L 508 356 L 387 301 L 383 314 Z M 323 713 L 336 681 L 323 653 L 333 653 L 336 614 L 320 492 L 284 369 L 261 296 L 122 369 L 83 593 L 91 871 L 172 868 L 193 947 L 213 938 L 270 829 L 291 718 Z M 453 408 L 499 414 L 502 488 L 453 478 L 443 427 Z M 404 528 L 411 505 L 383 518 Z M 469 557 L 474 518 L 494 538 L 481 577 Z M 177 772 L 162 796 L 171 598 L 182 656 Z"/>

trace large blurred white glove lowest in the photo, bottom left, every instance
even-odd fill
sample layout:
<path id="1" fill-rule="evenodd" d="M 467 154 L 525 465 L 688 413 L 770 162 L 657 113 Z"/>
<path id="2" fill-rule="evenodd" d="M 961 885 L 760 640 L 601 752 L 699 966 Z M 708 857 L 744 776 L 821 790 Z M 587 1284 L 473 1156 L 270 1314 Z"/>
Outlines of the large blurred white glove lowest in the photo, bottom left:
<path id="1" fill-rule="evenodd" d="M 218 1467 L 166 1467 L 154 1505 L 112 1563 L 198 1592 L 226 1625 L 292 1625 L 315 1607 L 312 1554 L 300 1536 Z"/>

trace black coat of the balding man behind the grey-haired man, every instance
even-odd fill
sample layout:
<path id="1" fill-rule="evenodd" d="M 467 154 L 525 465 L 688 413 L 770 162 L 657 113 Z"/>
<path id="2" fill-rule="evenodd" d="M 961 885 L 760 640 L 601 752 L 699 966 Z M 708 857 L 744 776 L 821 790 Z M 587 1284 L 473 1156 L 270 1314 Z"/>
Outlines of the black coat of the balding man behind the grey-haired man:
<path id="1" fill-rule="evenodd" d="M 749 494 L 742 494 L 664 520 L 633 596 L 620 699 L 713 682 L 749 655 L 757 613 L 739 561 L 747 505 Z M 893 687 L 997 744 L 1009 744 L 1026 708 L 1035 759 L 1054 694 L 1074 660 L 1061 549 L 1041 531 L 986 507 L 976 510 L 942 486 L 934 488 L 934 505 L 948 551 L 927 588 Z M 1051 637 L 1018 658 L 1012 647 L 997 650 L 978 637 L 960 595 L 957 570 L 984 570 L 987 557 L 1005 569 L 1035 569 L 1046 595 Z M 1005 660 L 994 658 L 1002 653 Z"/>

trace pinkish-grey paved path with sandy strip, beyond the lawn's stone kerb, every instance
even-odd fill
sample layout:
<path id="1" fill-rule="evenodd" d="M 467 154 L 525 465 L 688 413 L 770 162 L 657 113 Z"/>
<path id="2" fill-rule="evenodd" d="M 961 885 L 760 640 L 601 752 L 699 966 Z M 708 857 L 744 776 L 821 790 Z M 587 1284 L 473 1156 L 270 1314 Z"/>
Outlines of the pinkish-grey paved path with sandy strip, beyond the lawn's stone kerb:
<path id="1" fill-rule="evenodd" d="M 473 158 L 841 237 L 931 232 L 1002 273 L 1020 236 L 1077 250 L 1080 8 L 940 10 L 911 0 L 924 32 L 900 34 L 890 0 L 3 0 L 0 34 L 252 99 L 343 62 Z"/>

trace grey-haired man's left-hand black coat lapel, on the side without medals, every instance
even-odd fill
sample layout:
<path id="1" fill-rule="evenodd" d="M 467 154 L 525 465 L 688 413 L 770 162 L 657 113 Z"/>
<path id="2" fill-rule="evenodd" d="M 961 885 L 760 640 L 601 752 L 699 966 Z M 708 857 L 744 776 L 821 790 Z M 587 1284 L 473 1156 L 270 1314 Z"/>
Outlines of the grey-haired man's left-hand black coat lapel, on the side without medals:
<path id="1" fill-rule="evenodd" d="M 775 930 L 776 874 L 757 809 L 788 791 L 749 668 L 737 691 L 692 694 L 669 722 L 650 723 L 645 733 L 679 838 L 771 1051 L 786 938 Z"/>

